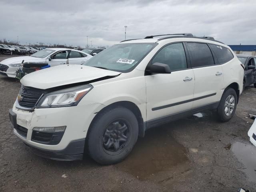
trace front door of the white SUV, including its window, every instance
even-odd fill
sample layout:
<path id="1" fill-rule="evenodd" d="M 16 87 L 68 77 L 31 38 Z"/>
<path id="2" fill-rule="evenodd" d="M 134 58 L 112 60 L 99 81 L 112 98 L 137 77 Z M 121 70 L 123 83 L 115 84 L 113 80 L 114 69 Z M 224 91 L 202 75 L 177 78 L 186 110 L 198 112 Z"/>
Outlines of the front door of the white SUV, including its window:
<path id="1" fill-rule="evenodd" d="M 162 48 L 152 59 L 152 64 L 169 65 L 172 72 L 145 76 L 147 122 L 164 120 L 192 108 L 195 77 L 187 58 L 184 44 L 174 43 Z"/>

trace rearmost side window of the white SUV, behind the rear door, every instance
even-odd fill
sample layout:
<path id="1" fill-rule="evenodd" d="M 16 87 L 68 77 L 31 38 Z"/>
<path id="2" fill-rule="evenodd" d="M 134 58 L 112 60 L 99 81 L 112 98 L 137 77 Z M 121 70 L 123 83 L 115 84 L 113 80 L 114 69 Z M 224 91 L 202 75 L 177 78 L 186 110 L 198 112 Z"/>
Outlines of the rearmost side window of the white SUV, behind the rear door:
<path id="1" fill-rule="evenodd" d="M 213 44 L 210 44 L 210 47 L 216 55 L 219 64 L 226 63 L 234 58 L 232 52 L 226 47 Z"/>

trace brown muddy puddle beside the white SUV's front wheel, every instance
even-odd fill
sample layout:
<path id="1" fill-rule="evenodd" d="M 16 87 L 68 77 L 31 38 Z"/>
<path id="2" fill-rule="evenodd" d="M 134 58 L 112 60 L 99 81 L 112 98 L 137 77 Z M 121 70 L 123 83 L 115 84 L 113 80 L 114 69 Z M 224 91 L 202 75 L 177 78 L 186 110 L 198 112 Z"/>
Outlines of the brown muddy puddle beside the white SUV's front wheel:
<path id="1" fill-rule="evenodd" d="M 186 164 L 187 167 L 186 154 L 186 148 L 172 138 L 170 129 L 156 127 L 148 130 L 144 138 L 138 138 L 131 154 L 116 167 L 139 180 L 146 180 L 156 175 L 163 176 L 180 164 Z"/>

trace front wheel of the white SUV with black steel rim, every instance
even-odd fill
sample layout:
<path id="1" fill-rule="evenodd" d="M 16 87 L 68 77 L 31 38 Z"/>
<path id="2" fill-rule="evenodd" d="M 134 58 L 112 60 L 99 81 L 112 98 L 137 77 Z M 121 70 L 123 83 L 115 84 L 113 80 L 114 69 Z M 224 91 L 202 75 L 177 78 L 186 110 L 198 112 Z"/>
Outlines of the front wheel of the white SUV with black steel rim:
<path id="1" fill-rule="evenodd" d="M 136 116 L 124 107 L 110 108 L 98 114 L 88 132 L 86 147 L 90 156 L 103 165 L 121 162 L 138 139 L 138 127 Z"/>

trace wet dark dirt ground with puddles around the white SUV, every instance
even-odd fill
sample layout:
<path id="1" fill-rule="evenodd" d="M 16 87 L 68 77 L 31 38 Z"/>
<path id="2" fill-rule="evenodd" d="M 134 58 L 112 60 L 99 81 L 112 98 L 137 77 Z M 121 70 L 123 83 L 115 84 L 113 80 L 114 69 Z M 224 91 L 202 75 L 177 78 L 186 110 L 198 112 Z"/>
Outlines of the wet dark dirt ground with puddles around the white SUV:
<path id="1" fill-rule="evenodd" d="M 7 57 L 0 56 L 0 61 Z M 59 162 L 25 149 L 8 109 L 20 82 L 0 76 L 0 191 L 236 192 L 256 189 L 256 147 L 247 132 L 256 114 L 256 88 L 246 88 L 236 114 L 220 123 L 206 111 L 152 128 L 123 162 L 101 166 L 88 156 Z M 66 178 L 62 175 L 66 174 Z"/>

